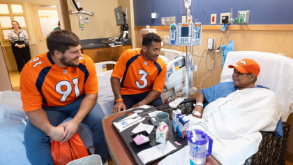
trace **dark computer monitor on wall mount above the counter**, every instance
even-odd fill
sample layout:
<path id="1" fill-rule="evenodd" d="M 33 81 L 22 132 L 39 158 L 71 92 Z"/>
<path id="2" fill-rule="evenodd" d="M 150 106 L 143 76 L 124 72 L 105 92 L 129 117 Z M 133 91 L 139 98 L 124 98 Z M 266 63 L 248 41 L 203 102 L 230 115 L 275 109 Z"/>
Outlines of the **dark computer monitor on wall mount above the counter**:
<path id="1" fill-rule="evenodd" d="M 128 41 L 128 23 L 126 21 L 126 15 L 123 13 L 122 6 L 114 8 L 116 24 L 121 26 L 119 41 L 127 42 Z M 126 12 L 127 13 L 127 12 Z"/>

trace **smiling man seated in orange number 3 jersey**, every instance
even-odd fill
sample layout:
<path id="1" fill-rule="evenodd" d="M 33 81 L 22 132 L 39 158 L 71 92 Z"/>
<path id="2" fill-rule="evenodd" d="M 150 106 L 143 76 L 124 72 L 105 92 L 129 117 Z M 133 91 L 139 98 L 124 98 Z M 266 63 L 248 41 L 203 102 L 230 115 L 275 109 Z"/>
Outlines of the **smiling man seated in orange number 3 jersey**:
<path id="1" fill-rule="evenodd" d="M 167 66 L 160 54 L 162 39 L 149 33 L 142 49 L 126 50 L 119 57 L 111 76 L 115 104 L 112 113 L 142 105 L 162 106 Z"/>

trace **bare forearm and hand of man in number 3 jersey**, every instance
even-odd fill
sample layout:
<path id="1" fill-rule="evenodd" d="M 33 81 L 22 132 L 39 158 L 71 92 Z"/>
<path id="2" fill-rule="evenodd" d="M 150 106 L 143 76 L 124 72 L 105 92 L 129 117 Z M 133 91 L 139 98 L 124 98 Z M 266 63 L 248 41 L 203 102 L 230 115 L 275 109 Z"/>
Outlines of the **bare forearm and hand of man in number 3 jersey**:
<path id="1" fill-rule="evenodd" d="M 114 93 L 115 100 L 122 99 L 121 92 L 120 92 L 121 85 L 120 85 L 119 78 L 111 77 L 110 80 L 111 80 L 111 86 L 112 86 L 112 91 Z M 112 113 L 118 113 L 120 112 L 121 109 L 126 110 L 126 106 L 123 103 L 123 101 L 115 103 L 112 109 Z"/>

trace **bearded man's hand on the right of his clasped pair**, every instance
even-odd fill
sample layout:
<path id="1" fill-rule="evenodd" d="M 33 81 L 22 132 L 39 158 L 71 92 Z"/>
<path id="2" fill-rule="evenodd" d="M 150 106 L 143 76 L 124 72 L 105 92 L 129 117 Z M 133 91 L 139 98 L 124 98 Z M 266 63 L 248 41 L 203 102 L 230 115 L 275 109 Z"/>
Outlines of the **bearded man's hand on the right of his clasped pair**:
<path id="1" fill-rule="evenodd" d="M 79 124 L 80 123 L 76 122 L 74 119 L 69 120 L 68 122 L 64 122 L 62 124 L 59 124 L 59 126 L 62 126 L 65 128 L 65 130 L 62 134 L 61 143 L 68 141 L 76 133 Z"/>

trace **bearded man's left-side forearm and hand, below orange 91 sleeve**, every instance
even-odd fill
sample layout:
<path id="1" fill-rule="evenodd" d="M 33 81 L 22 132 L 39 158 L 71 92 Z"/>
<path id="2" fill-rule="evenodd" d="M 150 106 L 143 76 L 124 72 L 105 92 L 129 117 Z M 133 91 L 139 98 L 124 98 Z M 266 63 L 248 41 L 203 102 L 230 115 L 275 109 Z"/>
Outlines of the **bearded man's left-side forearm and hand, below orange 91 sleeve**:
<path id="1" fill-rule="evenodd" d="M 57 126 L 54 127 L 50 124 L 47 113 L 43 108 L 38 110 L 27 111 L 27 117 L 29 121 L 38 129 L 42 130 L 52 138 L 54 141 L 61 141 L 63 139 L 62 134 L 64 132 L 64 127 Z"/>

